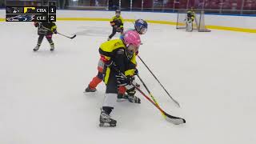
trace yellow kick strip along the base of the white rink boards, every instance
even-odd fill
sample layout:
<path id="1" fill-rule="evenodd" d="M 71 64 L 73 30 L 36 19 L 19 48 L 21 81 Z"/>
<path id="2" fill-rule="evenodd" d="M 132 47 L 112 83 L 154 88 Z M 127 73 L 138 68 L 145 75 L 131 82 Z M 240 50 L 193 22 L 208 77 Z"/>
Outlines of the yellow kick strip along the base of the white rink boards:
<path id="1" fill-rule="evenodd" d="M 0 18 L 0 22 L 5 22 L 5 21 L 6 21 L 5 18 Z M 57 21 L 110 21 L 110 18 L 57 18 Z M 125 19 L 125 22 L 135 22 L 135 19 Z M 168 21 L 146 20 L 146 22 L 164 24 L 164 25 L 176 25 L 176 22 L 168 22 Z M 215 29 L 215 30 L 230 30 L 230 31 L 238 31 L 238 32 L 245 32 L 245 33 L 256 33 L 256 29 L 246 29 L 246 28 L 240 28 L 240 27 L 227 27 L 227 26 L 206 26 L 206 27 L 208 29 Z"/>

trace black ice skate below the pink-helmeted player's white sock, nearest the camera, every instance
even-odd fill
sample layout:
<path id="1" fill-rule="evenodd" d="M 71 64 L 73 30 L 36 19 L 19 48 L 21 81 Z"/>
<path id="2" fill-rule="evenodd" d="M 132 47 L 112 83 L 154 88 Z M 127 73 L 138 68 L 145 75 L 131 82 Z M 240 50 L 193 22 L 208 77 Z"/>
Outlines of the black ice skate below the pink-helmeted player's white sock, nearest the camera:
<path id="1" fill-rule="evenodd" d="M 116 126 L 117 121 L 112 119 L 109 114 L 106 114 L 105 111 L 102 111 L 99 117 L 99 126 Z"/>

